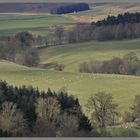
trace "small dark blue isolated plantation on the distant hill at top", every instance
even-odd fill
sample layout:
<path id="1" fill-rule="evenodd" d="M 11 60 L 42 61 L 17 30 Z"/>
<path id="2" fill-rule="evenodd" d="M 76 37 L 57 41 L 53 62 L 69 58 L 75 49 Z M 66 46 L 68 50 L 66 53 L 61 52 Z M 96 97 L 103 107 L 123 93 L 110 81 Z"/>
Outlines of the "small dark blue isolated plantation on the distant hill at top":
<path id="1" fill-rule="evenodd" d="M 76 3 L 59 6 L 51 10 L 52 14 L 67 14 L 79 11 L 89 10 L 89 5 L 87 3 Z"/>

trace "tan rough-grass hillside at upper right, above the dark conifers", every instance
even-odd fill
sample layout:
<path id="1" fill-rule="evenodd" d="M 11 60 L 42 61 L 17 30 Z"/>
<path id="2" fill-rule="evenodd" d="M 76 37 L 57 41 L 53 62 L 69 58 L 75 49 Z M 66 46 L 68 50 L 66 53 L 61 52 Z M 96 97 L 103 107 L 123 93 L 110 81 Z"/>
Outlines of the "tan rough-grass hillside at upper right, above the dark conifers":
<path id="1" fill-rule="evenodd" d="M 96 22 L 107 18 L 108 15 L 118 15 L 126 12 L 140 12 L 140 3 L 94 3 L 90 10 L 71 14 L 71 17 L 80 22 Z"/>

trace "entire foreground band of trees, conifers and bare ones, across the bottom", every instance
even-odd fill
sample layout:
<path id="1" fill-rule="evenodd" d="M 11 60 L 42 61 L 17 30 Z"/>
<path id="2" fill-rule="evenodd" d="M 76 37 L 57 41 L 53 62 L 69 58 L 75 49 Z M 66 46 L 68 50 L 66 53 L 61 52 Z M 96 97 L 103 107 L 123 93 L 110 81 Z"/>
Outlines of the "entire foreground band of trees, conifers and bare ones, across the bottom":
<path id="1" fill-rule="evenodd" d="M 32 86 L 14 87 L 0 81 L 0 136 L 1 137 L 99 137 L 116 136 L 108 127 L 134 122 L 140 117 L 139 95 L 131 112 L 119 121 L 118 104 L 113 97 L 99 92 L 88 99 L 90 119 L 82 112 L 78 98 L 59 93 L 39 91 Z M 119 136 L 137 136 L 131 130 Z"/>

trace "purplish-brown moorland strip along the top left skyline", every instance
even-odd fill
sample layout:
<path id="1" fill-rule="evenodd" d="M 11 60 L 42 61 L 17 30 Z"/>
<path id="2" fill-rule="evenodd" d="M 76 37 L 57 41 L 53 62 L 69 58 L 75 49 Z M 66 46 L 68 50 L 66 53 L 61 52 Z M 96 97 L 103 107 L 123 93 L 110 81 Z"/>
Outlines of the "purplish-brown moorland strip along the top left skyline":
<path id="1" fill-rule="evenodd" d="M 51 13 L 54 9 L 72 4 L 75 5 L 74 3 L 0 3 L 0 13 Z"/>

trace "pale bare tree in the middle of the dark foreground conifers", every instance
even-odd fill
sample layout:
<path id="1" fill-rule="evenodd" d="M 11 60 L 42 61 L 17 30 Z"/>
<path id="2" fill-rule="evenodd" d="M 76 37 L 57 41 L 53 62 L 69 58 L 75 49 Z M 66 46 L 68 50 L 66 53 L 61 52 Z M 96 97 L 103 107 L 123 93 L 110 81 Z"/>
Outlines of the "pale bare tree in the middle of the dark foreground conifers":
<path id="1" fill-rule="evenodd" d="M 60 111 L 60 105 L 56 98 L 39 98 L 36 103 L 38 119 L 33 129 L 33 135 L 56 136 Z"/>

